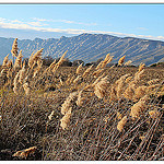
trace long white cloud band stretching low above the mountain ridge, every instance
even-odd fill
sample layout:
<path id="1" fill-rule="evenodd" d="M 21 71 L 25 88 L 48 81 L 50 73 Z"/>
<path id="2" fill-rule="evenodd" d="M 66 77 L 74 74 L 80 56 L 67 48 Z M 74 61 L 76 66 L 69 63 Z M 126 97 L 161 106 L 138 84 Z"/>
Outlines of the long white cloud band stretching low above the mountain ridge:
<path id="1" fill-rule="evenodd" d="M 38 21 L 38 20 L 37 20 Z M 66 21 L 66 20 L 65 20 Z M 71 23 L 71 22 L 69 22 Z M 9 21 L 5 19 L 0 17 L 0 27 L 1 28 L 15 28 L 15 30 L 33 30 L 39 32 L 56 32 L 56 33 L 67 33 L 67 34 L 82 34 L 82 33 L 91 33 L 91 34 L 109 34 L 120 37 L 139 37 L 145 39 L 156 39 L 156 40 L 164 40 L 164 36 L 145 36 L 145 35 L 136 35 L 136 34 L 125 34 L 125 33 L 117 33 L 117 32 L 104 32 L 104 31 L 87 31 L 87 30 L 74 30 L 74 28 L 52 28 L 52 27 L 44 27 L 43 23 L 40 22 L 26 22 L 23 23 L 19 20 Z"/>

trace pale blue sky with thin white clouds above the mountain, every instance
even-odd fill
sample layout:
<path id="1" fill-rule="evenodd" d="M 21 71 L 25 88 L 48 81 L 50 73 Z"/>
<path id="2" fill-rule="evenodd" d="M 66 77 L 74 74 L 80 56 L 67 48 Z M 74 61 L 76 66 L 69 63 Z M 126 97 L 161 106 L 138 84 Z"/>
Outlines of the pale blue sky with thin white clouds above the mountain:
<path id="1" fill-rule="evenodd" d="M 82 33 L 164 40 L 164 4 L 0 4 L 0 37 Z"/>

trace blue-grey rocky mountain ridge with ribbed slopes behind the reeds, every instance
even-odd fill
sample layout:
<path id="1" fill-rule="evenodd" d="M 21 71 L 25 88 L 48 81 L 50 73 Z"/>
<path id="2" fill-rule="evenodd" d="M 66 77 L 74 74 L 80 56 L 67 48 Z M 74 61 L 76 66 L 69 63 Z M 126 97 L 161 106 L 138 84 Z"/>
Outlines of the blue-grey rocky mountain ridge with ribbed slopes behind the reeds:
<path id="1" fill-rule="evenodd" d="M 11 54 L 14 38 L 0 37 L 0 63 Z M 164 42 L 140 39 L 133 37 L 116 37 L 103 34 L 81 34 L 73 37 L 22 39 L 19 48 L 24 57 L 30 57 L 35 50 L 44 48 L 44 56 L 60 57 L 66 50 L 67 57 L 73 61 L 83 60 L 85 63 L 104 58 L 108 52 L 114 56 L 114 62 L 126 55 L 126 61 L 133 65 L 144 62 L 147 66 L 164 61 Z"/>

